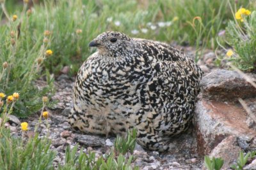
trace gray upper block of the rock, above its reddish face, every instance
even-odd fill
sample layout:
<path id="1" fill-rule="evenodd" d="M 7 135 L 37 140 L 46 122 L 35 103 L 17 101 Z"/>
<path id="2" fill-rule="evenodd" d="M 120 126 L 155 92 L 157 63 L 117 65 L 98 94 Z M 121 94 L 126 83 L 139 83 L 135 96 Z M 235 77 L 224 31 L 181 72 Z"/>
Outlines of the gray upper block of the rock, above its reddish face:
<path id="1" fill-rule="evenodd" d="M 255 74 L 248 74 L 256 81 Z M 256 97 L 256 89 L 236 71 L 217 69 L 205 75 L 200 82 L 201 95 L 207 99 L 234 101 L 237 97 Z"/>

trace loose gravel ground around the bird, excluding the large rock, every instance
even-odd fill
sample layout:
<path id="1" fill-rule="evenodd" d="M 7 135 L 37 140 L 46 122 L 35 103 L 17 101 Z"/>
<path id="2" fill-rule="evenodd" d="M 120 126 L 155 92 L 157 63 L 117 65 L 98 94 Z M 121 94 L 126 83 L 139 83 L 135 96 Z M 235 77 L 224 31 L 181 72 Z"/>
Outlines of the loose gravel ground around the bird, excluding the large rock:
<path id="1" fill-rule="evenodd" d="M 178 47 L 179 48 L 179 47 Z M 189 56 L 195 55 L 195 49 L 191 47 L 183 47 L 185 53 Z M 215 69 L 214 52 L 205 51 L 205 55 L 198 61 L 198 64 L 205 73 L 211 72 Z M 70 107 L 72 107 L 72 86 L 75 78 L 68 78 L 66 74 L 61 74 L 56 78 L 56 94 L 52 97 L 54 100 L 59 102 L 52 108 L 49 109 L 50 117 L 48 119 L 50 126 L 49 138 L 52 140 L 51 148 L 58 152 L 54 165 L 58 163 L 63 164 L 65 160 L 65 148 L 70 145 L 71 147 L 79 143 L 79 150 L 83 147 L 83 152 L 88 153 L 93 151 L 96 153 L 96 157 L 104 153 L 108 153 L 113 147 L 115 137 L 107 139 L 102 136 L 92 136 L 88 134 L 77 134 L 72 132 L 67 122 L 68 113 Z M 38 85 L 42 86 L 44 83 L 38 81 Z M 36 113 L 33 117 L 23 119 L 29 124 L 30 133 L 35 128 L 35 124 L 38 122 L 40 113 Z M 18 120 L 10 123 L 10 129 L 13 135 L 20 135 L 19 122 Z M 170 141 L 170 146 L 173 149 L 170 152 L 159 153 L 143 150 L 140 145 L 136 145 L 134 155 L 137 159 L 134 164 L 139 166 L 140 169 L 202 169 L 203 157 L 200 157 L 196 153 L 196 138 L 195 128 L 191 125 L 188 132 L 181 134 L 177 138 L 173 138 Z M 45 122 L 43 122 L 38 131 L 40 136 L 45 136 L 48 132 Z M 31 135 L 27 134 L 28 136 Z"/>

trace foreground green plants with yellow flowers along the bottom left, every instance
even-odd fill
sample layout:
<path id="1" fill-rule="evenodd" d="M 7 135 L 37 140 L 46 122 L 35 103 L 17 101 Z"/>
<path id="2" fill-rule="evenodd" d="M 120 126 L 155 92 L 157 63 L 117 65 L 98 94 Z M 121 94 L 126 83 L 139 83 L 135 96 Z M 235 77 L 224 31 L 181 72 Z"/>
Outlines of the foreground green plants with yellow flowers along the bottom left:
<path id="1" fill-rule="evenodd" d="M 42 98 L 42 111 L 35 130 L 31 132 L 28 123 L 22 122 L 20 124 L 22 135 L 18 137 L 12 136 L 5 124 L 20 96 L 17 93 L 14 93 L 12 97 L 8 96 L 6 104 L 3 104 L 3 96 L 0 94 L 0 109 L 3 108 L 3 112 L 0 112 L 0 169 L 138 169 L 132 165 L 136 159 L 132 155 L 136 145 L 135 129 L 129 131 L 125 138 L 118 136 L 111 152 L 100 155 L 100 157 L 95 157 L 94 152 L 84 153 L 83 148 L 78 153 L 78 145 L 72 150 L 70 146 L 67 146 L 64 164 L 59 164 L 54 168 L 52 162 L 56 157 L 56 152 L 50 149 L 49 133 L 46 136 L 39 136 L 37 131 L 40 124 L 45 124 L 49 130 L 48 113 L 44 111 L 48 101 L 47 97 Z"/>

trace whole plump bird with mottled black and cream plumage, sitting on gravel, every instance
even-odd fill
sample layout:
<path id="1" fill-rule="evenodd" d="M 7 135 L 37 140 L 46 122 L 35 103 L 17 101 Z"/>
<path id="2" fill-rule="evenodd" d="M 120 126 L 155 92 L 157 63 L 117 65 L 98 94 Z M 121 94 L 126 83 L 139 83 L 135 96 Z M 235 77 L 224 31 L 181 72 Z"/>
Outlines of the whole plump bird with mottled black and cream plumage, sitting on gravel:
<path id="1" fill-rule="evenodd" d="M 186 131 L 193 117 L 202 70 L 172 46 L 104 32 L 74 85 L 69 121 L 77 131 L 126 134 L 138 129 L 138 143 L 168 150 L 166 141 Z"/>

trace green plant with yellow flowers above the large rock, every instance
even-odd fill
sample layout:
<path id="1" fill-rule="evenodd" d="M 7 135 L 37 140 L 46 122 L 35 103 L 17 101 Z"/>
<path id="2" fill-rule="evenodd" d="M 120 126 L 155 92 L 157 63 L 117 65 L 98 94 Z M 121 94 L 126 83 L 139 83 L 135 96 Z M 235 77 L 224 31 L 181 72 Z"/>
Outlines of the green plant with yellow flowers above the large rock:
<path id="1" fill-rule="evenodd" d="M 256 71 L 256 11 L 240 8 L 226 28 L 227 42 L 233 50 L 227 50 L 226 59 L 243 71 Z"/>

